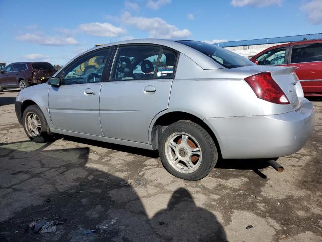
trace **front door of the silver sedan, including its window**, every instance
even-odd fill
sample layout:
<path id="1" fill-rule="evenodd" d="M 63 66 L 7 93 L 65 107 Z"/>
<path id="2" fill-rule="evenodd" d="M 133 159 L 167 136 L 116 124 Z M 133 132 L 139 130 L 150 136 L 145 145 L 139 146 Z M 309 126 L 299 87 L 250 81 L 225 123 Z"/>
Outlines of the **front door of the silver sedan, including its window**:
<path id="1" fill-rule="evenodd" d="M 61 86 L 49 89 L 48 106 L 55 129 L 103 136 L 99 98 L 111 48 L 87 53 L 61 74 Z"/>

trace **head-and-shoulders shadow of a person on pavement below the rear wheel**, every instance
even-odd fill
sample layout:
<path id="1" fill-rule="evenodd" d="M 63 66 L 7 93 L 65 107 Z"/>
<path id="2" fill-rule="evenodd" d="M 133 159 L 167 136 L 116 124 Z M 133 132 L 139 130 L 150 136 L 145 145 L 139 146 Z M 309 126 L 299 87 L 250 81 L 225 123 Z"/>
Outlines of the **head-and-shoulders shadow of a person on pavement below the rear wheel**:
<path id="1" fill-rule="evenodd" d="M 171 241 L 227 241 L 217 218 L 197 207 L 185 188 L 172 194 L 167 208 L 151 219 L 151 226 L 156 234 Z"/>

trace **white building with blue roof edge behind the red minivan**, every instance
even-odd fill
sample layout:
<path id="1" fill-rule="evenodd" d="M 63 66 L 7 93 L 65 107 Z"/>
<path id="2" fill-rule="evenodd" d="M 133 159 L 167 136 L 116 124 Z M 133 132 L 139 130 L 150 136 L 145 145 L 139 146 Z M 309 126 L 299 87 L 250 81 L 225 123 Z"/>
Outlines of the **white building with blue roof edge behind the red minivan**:
<path id="1" fill-rule="evenodd" d="M 237 40 L 228 41 L 223 43 L 217 43 L 220 47 L 231 50 L 241 56 L 246 58 L 251 58 L 259 52 L 279 44 L 285 44 L 289 42 L 296 42 L 302 40 L 311 39 L 322 39 L 322 33 L 320 34 L 304 34 L 304 35 L 294 35 L 286 37 L 268 38 L 268 39 L 252 39 L 252 40 Z"/>

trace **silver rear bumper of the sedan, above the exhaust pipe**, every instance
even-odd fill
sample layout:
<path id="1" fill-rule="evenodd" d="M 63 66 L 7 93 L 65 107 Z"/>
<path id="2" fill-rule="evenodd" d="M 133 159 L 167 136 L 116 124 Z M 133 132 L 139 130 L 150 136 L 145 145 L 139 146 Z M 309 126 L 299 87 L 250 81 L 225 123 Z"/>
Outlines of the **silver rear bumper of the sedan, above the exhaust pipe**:
<path id="1" fill-rule="evenodd" d="M 278 115 L 207 118 L 224 159 L 274 158 L 299 151 L 314 129 L 314 107 L 307 99 Z"/>

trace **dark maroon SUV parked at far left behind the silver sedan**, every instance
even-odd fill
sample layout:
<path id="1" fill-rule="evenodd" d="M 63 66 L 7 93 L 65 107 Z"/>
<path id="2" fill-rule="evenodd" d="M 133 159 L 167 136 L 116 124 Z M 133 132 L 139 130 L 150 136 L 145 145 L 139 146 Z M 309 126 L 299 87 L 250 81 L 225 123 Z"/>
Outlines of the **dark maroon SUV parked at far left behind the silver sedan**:
<path id="1" fill-rule="evenodd" d="M 48 62 L 15 62 L 0 71 L 0 92 L 4 88 L 19 87 L 20 90 L 47 82 L 56 73 Z"/>

